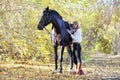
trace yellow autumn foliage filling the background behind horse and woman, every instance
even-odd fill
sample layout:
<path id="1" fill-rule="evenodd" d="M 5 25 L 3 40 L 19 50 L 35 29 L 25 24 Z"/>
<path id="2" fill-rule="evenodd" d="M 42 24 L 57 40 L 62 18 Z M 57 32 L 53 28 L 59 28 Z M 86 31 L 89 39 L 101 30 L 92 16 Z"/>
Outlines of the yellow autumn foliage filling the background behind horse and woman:
<path id="1" fill-rule="evenodd" d="M 45 30 L 37 29 L 42 11 L 47 6 L 58 11 L 65 21 L 79 22 L 83 31 L 84 52 L 110 52 L 114 36 L 119 36 L 119 31 L 115 29 L 119 22 L 119 10 L 115 7 L 109 20 L 104 18 L 104 15 L 109 15 L 106 14 L 109 7 L 101 5 L 103 3 L 96 0 L 1 0 L 0 45 L 9 53 L 7 61 L 16 55 L 18 59 L 49 61 L 53 54 L 51 39 Z M 110 24 L 104 21 L 110 21 Z M 50 32 L 51 26 L 46 26 Z"/>

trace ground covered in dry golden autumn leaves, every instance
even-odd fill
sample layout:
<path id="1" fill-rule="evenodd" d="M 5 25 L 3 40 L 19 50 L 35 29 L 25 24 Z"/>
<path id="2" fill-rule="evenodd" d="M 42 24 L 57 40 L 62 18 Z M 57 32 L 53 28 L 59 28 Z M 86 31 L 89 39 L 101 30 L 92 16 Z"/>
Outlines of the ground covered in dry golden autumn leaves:
<path id="1" fill-rule="evenodd" d="M 69 65 L 63 65 L 63 73 L 53 71 L 54 64 L 0 63 L 0 80 L 119 80 L 120 55 L 94 54 L 83 63 L 85 75 L 69 73 Z M 74 71 L 74 70 L 73 70 Z"/>

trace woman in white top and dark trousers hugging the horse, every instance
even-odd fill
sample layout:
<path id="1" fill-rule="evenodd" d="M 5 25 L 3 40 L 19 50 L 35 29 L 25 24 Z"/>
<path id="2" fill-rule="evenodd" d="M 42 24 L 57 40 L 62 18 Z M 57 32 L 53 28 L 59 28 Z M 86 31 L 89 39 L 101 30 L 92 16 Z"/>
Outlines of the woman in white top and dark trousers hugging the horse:
<path id="1" fill-rule="evenodd" d="M 74 55 L 74 63 L 76 64 L 77 71 L 76 73 L 79 75 L 84 74 L 82 71 L 82 61 L 81 61 L 81 46 L 80 43 L 82 41 L 82 32 L 78 26 L 78 22 L 73 22 L 74 34 L 71 34 L 69 30 L 68 33 L 71 35 L 73 39 L 73 55 Z"/>

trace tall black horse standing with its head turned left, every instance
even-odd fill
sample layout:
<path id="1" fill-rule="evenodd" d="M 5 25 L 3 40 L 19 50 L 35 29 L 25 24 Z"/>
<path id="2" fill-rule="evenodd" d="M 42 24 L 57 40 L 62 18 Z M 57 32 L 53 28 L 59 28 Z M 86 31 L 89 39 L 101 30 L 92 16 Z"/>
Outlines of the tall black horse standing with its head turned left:
<path id="1" fill-rule="evenodd" d="M 71 50 L 72 38 L 70 37 L 70 34 L 67 32 L 67 28 L 68 29 L 70 28 L 69 27 L 70 24 L 64 21 L 57 11 L 51 10 L 49 9 L 49 7 L 47 7 L 43 11 L 43 15 L 38 24 L 38 29 L 43 30 L 43 28 L 49 23 L 52 23 L 52 27 L 54 29 L 53 47 L 54 47 L 54 58 L 55 58 L 55 70 L 58 69 L 57 47 L 58 45 L 60 45 L 61 46 L 60 73 L 62 73 L 62 61 L 63 61 L 63 52 L 65 46 L 67 47 L 67 51 L 70 55 L 70 69 L 73 68 L 73 59 L 72 59 L 72 50 Z"/>

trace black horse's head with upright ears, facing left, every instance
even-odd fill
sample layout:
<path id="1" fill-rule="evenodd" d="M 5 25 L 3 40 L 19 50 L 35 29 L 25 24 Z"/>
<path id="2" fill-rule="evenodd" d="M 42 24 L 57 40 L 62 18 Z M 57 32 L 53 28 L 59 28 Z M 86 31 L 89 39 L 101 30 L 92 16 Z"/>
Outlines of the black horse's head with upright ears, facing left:
<path id="1" fill-rule="evenodd" d="M 43 11 L 43 15 L 41 17 L 41 20 L 38 24 L 38 29 L 39 30 L 43 30 L 43 28 L 48 25 L 51 22 L 51 16 L 50 16 L 50 12 L 49 12 L 49 7 L 47 7 L 44 11 Z"/>

